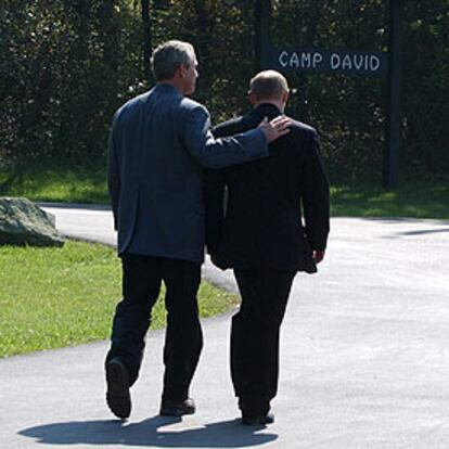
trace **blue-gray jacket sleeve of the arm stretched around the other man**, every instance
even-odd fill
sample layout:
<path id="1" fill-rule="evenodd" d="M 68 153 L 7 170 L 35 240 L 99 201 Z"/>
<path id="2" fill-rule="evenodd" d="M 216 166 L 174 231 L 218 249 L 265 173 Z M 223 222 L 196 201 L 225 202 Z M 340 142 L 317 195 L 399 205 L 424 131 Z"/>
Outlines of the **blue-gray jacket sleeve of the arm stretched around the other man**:
<path id="1" fill-rule="evenodd" d="M 207 168 L 222 168 L 268 156 L 268 141 L 260 129 L 215 139 L 209 130 L 207 110 L 196 105 L 187 112 L 183 144 L 188 151 Z"/>

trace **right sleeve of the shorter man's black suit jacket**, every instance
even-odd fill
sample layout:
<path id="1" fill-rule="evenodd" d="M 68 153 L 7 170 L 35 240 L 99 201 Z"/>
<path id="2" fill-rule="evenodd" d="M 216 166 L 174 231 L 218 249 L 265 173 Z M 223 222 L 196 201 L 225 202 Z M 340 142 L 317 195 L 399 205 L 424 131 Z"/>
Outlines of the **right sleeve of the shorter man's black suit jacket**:
<path id="1" fill-rule="evenodd" d="M 315 251 L 324 251 L 330 231 L 329 180 L 320 156 L 317 133 L 307 137 L 303 171 L 303 207 L 307 239 Z"/>

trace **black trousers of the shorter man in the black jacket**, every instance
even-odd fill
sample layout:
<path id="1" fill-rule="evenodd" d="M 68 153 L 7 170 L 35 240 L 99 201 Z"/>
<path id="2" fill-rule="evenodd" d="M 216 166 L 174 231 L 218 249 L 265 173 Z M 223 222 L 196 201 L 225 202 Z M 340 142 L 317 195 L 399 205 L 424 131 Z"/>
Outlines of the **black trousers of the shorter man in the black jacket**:
<path id="1" fill-rule="evenodd" d="M 279 333 L 295 270 L 234 269 L 242 296 L 232 317 L 231 376 L 240 408 L 267 413 L 278 392 Z"/>

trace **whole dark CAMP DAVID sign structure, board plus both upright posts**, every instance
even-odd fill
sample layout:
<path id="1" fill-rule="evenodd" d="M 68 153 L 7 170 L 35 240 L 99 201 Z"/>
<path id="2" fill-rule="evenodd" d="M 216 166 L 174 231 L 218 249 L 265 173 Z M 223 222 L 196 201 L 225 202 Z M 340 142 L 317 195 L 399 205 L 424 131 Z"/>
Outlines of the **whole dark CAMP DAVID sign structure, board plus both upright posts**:
<path id="1" fill-rule="evenodd" d="M 275 49 L 271 47 L 271 0 L 256 1 L 256 69 L 275 68 L 305 74 L 383 75 L 388 72 L 388 112 L 384 157 L 384 185 L 394 189 L 399 178 L 400 142 L 400 28 L 403 0 L 389 0 L 389 52 Z"/>

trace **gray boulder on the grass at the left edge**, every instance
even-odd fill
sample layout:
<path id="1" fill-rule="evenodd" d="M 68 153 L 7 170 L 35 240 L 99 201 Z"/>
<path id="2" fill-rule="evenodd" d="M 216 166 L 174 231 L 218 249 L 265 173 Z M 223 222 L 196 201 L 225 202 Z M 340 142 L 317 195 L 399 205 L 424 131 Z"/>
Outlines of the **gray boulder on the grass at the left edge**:
<path id="1" fill-rule="evenodd" d="M 63 246 L 55 219 L 26 198 L 0 196 L 0 245 Z"/>

